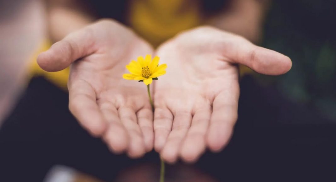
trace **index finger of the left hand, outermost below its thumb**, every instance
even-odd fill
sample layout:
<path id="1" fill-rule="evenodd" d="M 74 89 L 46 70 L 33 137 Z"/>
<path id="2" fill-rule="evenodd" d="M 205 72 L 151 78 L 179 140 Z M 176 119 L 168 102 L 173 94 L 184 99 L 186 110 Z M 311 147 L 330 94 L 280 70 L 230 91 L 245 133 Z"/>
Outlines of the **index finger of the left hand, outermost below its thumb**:
<path id="1" fill-rule="evenodd" d="M 69 109 L 79 123 L 93 136 L 104 133 L 107 122 L 96 103 L 96 93 L 92 86 L 83 80 L 69 82 Z"/>

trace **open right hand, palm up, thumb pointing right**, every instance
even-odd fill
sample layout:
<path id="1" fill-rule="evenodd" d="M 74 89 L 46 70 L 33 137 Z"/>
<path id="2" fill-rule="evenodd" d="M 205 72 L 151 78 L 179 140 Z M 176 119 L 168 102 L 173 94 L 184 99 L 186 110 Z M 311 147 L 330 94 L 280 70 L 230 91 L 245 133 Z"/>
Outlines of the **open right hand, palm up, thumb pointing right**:
<path id="1" fill-rule="evenodd" d="M 157 55 L 167 73 L 154 84 L 154 147 L 174 163 L 195 162 L 205 151 L 220 151 L 237 120 L 237 64 L 268 75 L 286 73 L 291 60 L 246 39 L 212 27 L 182 33 Z"/>

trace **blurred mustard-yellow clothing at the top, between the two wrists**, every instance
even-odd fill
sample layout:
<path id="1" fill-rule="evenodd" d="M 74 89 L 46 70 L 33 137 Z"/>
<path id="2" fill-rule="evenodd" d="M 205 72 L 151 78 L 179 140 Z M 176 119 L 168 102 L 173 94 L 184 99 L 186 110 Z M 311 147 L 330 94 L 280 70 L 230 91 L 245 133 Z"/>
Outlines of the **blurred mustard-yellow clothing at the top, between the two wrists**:
<path id="1" fill-rule="evenodd" d="M 198 1 L 137 0 L 129 9 L 132 28 L 157 47 L 177 33 L 201 24 Z"/>

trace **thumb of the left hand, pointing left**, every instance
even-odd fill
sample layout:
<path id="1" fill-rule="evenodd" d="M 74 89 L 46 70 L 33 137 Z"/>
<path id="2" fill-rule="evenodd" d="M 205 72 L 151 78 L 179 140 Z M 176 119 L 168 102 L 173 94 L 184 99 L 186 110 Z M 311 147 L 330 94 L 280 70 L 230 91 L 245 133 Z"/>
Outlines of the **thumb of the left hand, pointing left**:
<path id="1" fill-rule="evenodd" d="M 45 71 L 60 71 L 67 68 L 75 60 L 95 52 L 92 32 L 83 28 L 69 34 L 53 44 L 49 50 L 37 57 L 37 63 Z"/>

